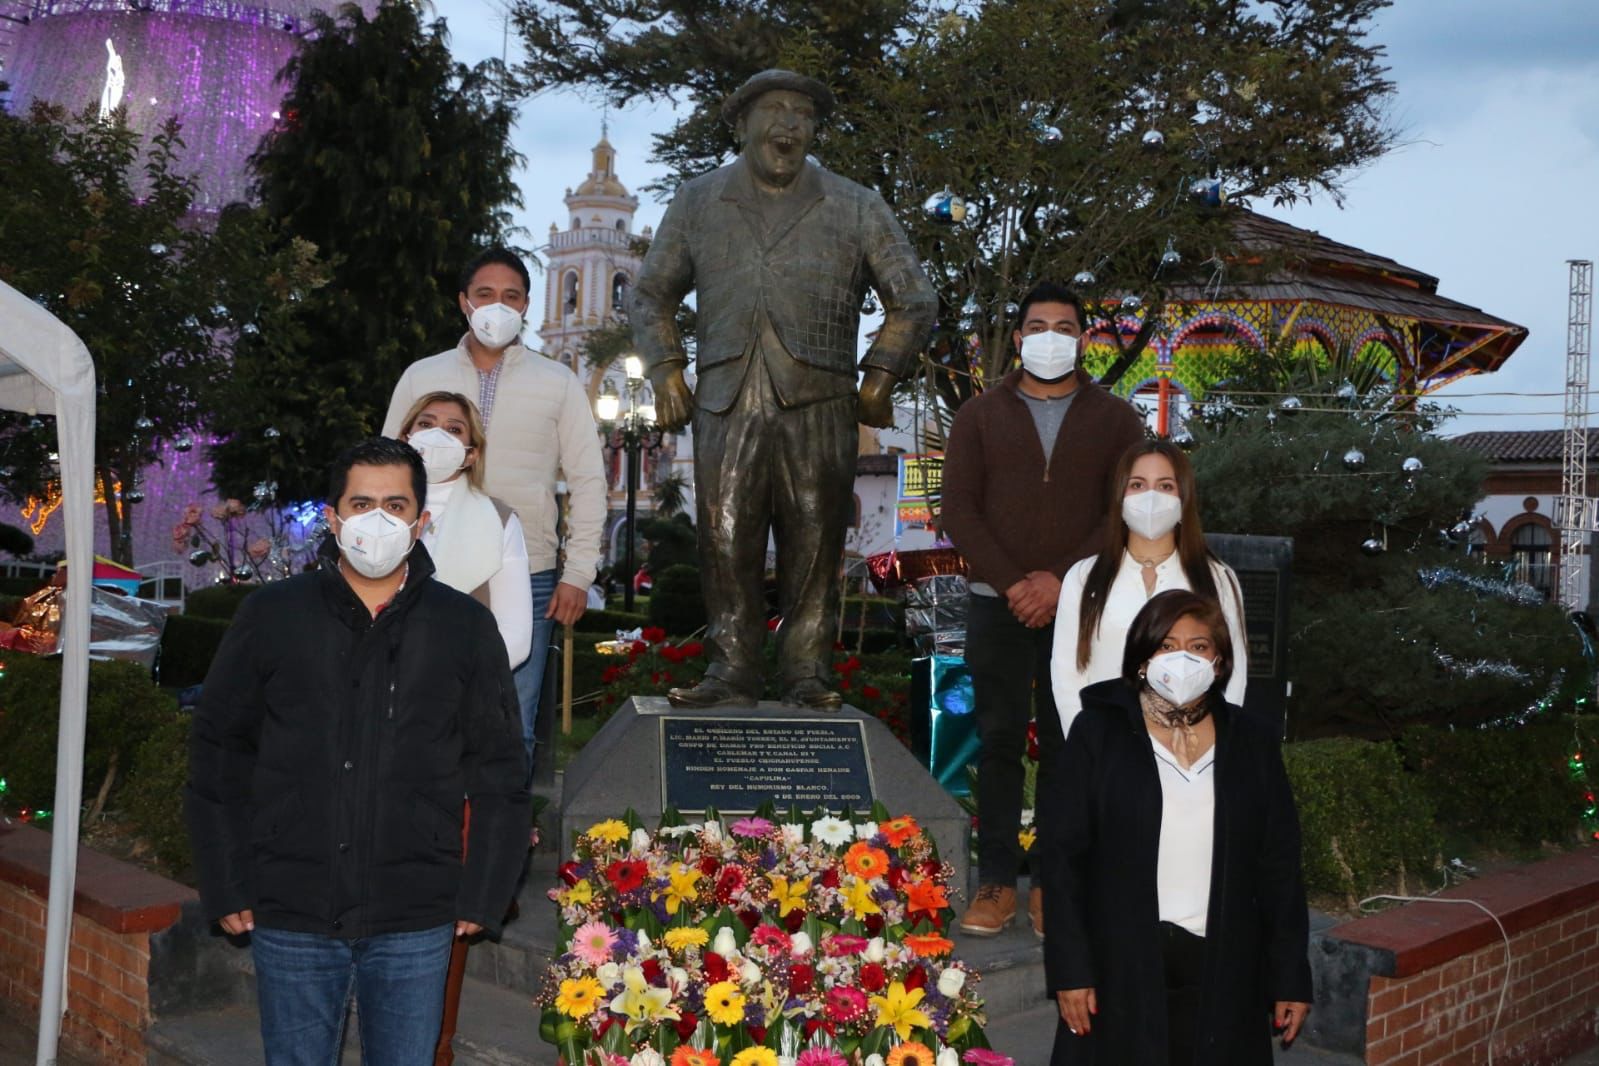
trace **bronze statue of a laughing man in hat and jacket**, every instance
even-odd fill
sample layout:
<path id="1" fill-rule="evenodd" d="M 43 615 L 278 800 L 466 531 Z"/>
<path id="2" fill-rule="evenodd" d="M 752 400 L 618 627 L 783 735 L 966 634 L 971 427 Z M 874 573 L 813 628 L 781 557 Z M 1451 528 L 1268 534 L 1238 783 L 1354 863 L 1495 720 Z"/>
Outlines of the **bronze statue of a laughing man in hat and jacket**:
<path id="1" fill-rule="evenodd" d="M 927 340 L 935 297 L 883 198 L 806 158 L 833 107 L 825 85 L 764 70 L 723 105 L 742 152 L 678 189 L 632 296 L 633 340 L 665 428 L 694 422 L 710 668 L 676 706 L 761 694 L 768 534 L 777 545 L 784 702 L 835 710 L 830 657 L 854 510 L 855 422 L 894 420 L 891 393 Z M 886 318 L 855 345 L 860 302 Z M 699 292 L 697 392 L 673 315 Z"/>

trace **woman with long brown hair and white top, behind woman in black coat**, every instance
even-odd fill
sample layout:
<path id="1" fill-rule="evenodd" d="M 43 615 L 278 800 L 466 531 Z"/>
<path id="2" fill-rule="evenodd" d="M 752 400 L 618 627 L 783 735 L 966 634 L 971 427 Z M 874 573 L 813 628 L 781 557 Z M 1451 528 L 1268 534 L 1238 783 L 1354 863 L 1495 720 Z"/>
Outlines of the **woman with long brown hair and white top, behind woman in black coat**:
<path id="1" fill-rule="evenodd" d="M 1127 626 L 1143 604 L 1186 588 L 1222 604 L 1233 638 L 1228 703 L 1244 703 L 1249 674 L 1244 603 L 1231 567 L 1210 555 L 1199 526 L 1199 499 L 1188 455 L 1169 441 L 1140 441 L 1113 475 L 1103 550 L 1067 571 L 1055 611 L 1049 679 L 1062 735 L 1083 710 L 1079 692 L 1121 676 Z"/>

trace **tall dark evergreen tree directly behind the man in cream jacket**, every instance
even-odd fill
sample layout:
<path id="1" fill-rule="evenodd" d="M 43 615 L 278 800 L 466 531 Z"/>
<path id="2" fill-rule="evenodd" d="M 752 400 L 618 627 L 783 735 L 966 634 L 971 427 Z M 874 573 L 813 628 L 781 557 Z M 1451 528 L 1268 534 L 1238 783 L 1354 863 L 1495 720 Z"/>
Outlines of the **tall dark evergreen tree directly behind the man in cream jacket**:
<path id="1" fill-rule="evenodd" d="M 262 479 L 320 495 L 326 460 L 382 428 L 401 371 L 465 331 L 457 272 L 520 203 L 497 62 L 456 62 L 443 21 L 413 5 L 313 18 L 253 166 L 270 245 L 318 249 L 331 278 L 240 339 L 216 478 L 245 499 Z"/>

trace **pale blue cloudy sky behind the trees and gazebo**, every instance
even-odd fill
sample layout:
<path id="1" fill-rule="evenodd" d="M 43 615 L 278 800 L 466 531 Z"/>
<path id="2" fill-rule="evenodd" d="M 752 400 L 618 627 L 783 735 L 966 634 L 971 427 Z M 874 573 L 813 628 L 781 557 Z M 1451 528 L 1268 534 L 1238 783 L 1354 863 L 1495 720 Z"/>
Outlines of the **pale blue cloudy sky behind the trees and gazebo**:
<path id="1" fill-rule="evenodd" d="M 437 11 L 461 59 L 502 54 L 497 0 L 437 0 Z M 1342 208 L 1265 209 L 1436 275 L 1444 296 L 1530 329 L 1500 372 L 1439 393 L 1461 412 L 1447 432 L 1557 428 L 1565 261 L 1599 259 L 1599 3 L 1398 0 L 1374 38 L 1398 85 L 1402 147 L 1351 174 Z M 632 189 L 660 173 L 651 134 L 670 118 L 648 107 L 609 115 L 617 173 Z M 596 101 L 569 93 L 523 105 L 523 243 L 564 217 L 561 197 L 587 174 L 600 121 Z M 641 200 L 635 230 L 664 209 Z M 1599 396 L 1589 404 L 1599 411 Z"/>

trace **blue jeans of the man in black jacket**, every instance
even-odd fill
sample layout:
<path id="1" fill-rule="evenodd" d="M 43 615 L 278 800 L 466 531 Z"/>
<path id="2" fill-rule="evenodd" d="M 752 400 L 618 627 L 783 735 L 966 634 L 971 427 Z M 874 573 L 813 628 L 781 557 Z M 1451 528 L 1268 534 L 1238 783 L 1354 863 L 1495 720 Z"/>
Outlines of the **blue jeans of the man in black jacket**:
<path id="1" fill-rule="evenodd" d="M 336 1066 L 352 984 L 361 1063 L 430 1066 L 454 935 L 454 922 L 361 940 L 256 929 L 249 948 L 267 1066 Z"/>

